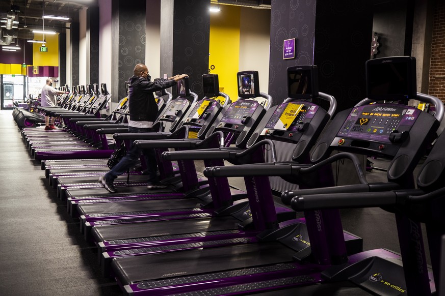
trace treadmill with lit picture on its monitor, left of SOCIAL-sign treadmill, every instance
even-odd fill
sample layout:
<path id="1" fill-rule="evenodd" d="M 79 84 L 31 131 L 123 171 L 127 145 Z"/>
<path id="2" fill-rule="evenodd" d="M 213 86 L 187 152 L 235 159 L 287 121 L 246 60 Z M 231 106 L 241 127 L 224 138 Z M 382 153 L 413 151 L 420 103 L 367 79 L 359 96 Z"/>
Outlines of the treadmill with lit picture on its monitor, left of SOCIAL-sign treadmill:
<path id="1" fill-rule="evenodd" d="M 257 77 L 256 71 L 250 72 Z M 250 72 L 249 75 L 251 75 Z M 272 99 L 269 95 L 259 94 L 259 91 L 257 91 L 249 96 L 253 98 L 255 95 L 260 96 L 258 100 L 267 104 L 266 108 L 269 108 Z M 266 113 L 266 108 L 253 99 L 239 99 L 231 103 L 227 111 L 222 112 L 213 125 L 208 126 L 205 131 L 200 131 L 198 133 L 199 139 L 166 139 L 151 142 L 155 143 L 156 149 L 163 149 L 163 151 L 166 151 L 168 147 L 180 150 L 203 149 L 206 147 L 219 147 L 221 141 L 226 141 L 223 140 L 223 138 L 226 139 L 225 135 L 232 135 L 233 139 L 238 135 L 237 144 L 244 146 L 251 133 L 254 132 L 259 119 Z M 188 123 L 189 119 L 187 118 L 185 123 Z M 191 124 L 196 125 L 196 122 L 193 123 L 191 121 Z M 158 162 L 160 171 L 166 163 L 170 162 L 166 160 Z M 218 163 L 223 164 L 222 160 Z M 171 189 L 168 192 L 168 188 L 166 190 L 153 191 L 142 187 L 128 187 L 122 188 L 121 192 L 114 194 L 109 194 L 102 190 L 98 196 L 91 195 L 91 191 L 85 191 L 82 193 L 83 195 L 80 195 L 77 193 L 80 190 L 77 190 L 75 191 L 76 196 L 73 197 L 69 196 L 72 193 L 68 190 L 66 195 L 72 205 L 77 205 L 77 212 L 81 215 L 81 224 L 85 225 L 86 235 L 88 235 L 89 229 L 93 225 L 99 224 L 129 222 L 131 219 L 137 219 L 138 222 L 142 222 L 142 220 L 172 219 L 173 216 L 184 219 L 211 215 L 215 205 L 212 203 L 210 188 L 216 185 L 211 182 L 206 187 L 200 186 L 193 160 L 180 160 L 178 165 L 180 168 L 180 181 L 182 185 L 188 186 L 182 192 L 171 191 Z M 227 203 L 221 204 L 224 206 L 228 205 L 229 202 L 231 203 L 233 194 L 242 193 L 241 191 L 230 189 L 227 180 L 221 188 L 225 190 L 224 198 Z M 245 196 L 244 193 L 242 196 Z M 99 203 L 91 203 L 90 199 L 92 197 L 99 198 Z M 94 202 L 94 200 L 92 201 Z M 201 208 L 201 204 L 206 204 L 209 209 Z"/>

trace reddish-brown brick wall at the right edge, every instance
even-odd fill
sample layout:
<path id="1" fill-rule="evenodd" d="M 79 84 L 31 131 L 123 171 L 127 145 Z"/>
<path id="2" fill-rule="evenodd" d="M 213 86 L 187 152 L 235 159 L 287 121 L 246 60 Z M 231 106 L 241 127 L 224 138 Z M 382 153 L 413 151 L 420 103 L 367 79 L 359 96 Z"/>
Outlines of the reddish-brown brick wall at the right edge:
<path id="1" fill-rule="evenodd" d="M 445 101 L 445 1 L 437 1 L 433 21 L 430 95 Z"/>

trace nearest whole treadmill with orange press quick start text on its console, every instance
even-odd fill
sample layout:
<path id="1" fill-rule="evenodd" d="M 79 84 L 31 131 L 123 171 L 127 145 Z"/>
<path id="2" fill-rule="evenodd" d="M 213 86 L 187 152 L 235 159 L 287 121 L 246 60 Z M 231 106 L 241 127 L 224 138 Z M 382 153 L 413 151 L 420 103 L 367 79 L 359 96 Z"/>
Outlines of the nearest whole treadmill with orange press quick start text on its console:
<path id="1" fill-rule="evenodd" d="M 415 74 L 410 75 L 413 71 L 415 73 L 415 64 L 409 57 L 372 60 L 367 63 L 367 85 L 376 90 L 375 81 L 382 82 L 378 86 L 385 87 L 380 88 L 379 94 L 383 92 L 399 97 L 402 90 L 408 98 L 416 98 L 442 108 L 437 98 L 415 94 Z M 410 87 L 412 84 L 414 87 Z M 382 99 L 384 96 L 379 94 L 371 93 L 375 95 L 375 99 Z M 204 175 L 246 176 L 246 180 L 252 184 L 247 187 L 248 194 L 254 199 L 259 199 L 257 206 L 264 208 L 262 210 L 265 217 L 270 207 L 267 202 L 261 200 L 263 195 L 258 194 L 265 192 L 264 182 L 257 181 L 264 181 L 266 175 L 304 176 L 308 173 L 318 173 L 326 164 L 343 157 L 353 161 L 362 183 L 362 191 L 411 189 L 413 184 L 409 182 L 409 176 L 412 180 L 415 164 L 433 140 L 439 120 L 443 116 L 443 108 L 442 112 L 436 113 L 436 119 L 426 112 L 404 104 L 368 105 L 372 102 L 365 99 L 357 106 L 335 116 L 311 154 L 310 159 L 316 162 L 315 165 L 270 163 L 213 167 L 206 168 Z M 415 139 L 409 137 L 410 134 L 415 135 Z M 327 158 L 332 150 L 348 152 Z M 392 159 L 388 170 L 391 173 L 388 175 L 390 182 L 367 184 L 357 158 L 349 152 Z M 336 190 L 335 188 L 339 187 L 331 190 Z M 309 189 L 302 191 L 304 190 Z M 323 188 L 311 190 L 323 192 Z M 294 258 L 293 247 L 300 237 L 298 229 L 278 228 L 275 232 L 267 231 L 257 235 L 256 238 L 261 242 L 256 244 L 115 258 L 111 263 L 113 273 L 123 291 L 132 295 L 242 294 L 321 283 L 321 272 L 329 265 L 341 266 L 358 262 L 370 255 L 390 260 L 400 258 L 398 254 L 383 249 L 351 255 L 348 258 L 339 211 L 315 210 L 305 211 L 304 214 L 311 245 L 311 256 L 303 258 L 309 258 L 309 262 L 304 264 L 298 262 L 299 256 Z"/>

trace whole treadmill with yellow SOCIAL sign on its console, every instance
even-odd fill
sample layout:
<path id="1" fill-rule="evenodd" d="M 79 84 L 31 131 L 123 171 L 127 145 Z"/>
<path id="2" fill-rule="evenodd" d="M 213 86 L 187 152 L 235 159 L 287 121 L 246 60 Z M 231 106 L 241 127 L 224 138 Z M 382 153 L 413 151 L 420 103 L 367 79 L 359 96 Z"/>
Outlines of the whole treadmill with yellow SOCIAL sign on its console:
<path id="1" fill-rule="evenodd" d="M 291 67 L 287 69 L 287 73 L 290 78 L 288 84 L 292 86 L 289 87 L 291 90 L 289 98 L 282 104 L 269 109 L 255 129 L 253 133 L 255 136 L 252 137 L 253 140 L 249 140 L 248 145 L 255 145 L 256 149 L 251 149 L 250 153 L 247 154 L 241 148 L 221 148 L 220 151 L 213 149 L 172 152 L 164 153 L 164 158 L 167 157 L 170 160 L 172 156 L 178 156 L 173 159 L 179 160 L 186 156 L 193 157 L 194 159 L 203 159 L 211 163 L 210 159 L 220 157 L 229 160 L 232 164 L 259 162 L 259 159 L 262 159 L 261 161 L 264 162 L 263 145 L 267 145 L 271 143 L 271 139 L 275 139 L 296 144 L 298 149 L 294 153 L 294 160 L 304 162 L 308 158 L 310 147 L 315 143 L 331 114 L 334 113 L 336 103 L 331 96 L 323 93 L 319 95 L 315 66 Z M 311 102 L 318 97 L 329 102 L 328 111 Z M 286 126 L 286 128 L 283 126 Z M 258 141 L 258 139 L 266 137 L 268 140 Z M 149 142 L 139 141 L 141 145 L 144 143 L 150 144 Z M 271 147 L 274 147 L 273 143 Z M 215 199 L 221 194 L 216 191 L 221 191 L 222 187 L 219 186 L 213 189 L 213 191 L 211 189 L 211 192 Z M 266 188 L 257 188 L 257 190 L 265 194 Z M 216 201 L 214 200 L 214 203 Z M 250 200 L 250 204 L 255 204 L 255 201 Z M 156 223 L 139 221 L 136 225 L 124 223 L 94 226 L 92 235 L 99 247 L 99 251 L 103 252 L 102 267 L 107 272 L 110 259 L 114 257 L 139 256 L 148 253 L 171 252 L 185 248 L 207 248 L 224 244 L 256 242 L 256 234 L 266 229 L 275 229 L 277 222 L 295 218 L 294 215 L 289 215 L 290 213 L 283 211 L 277 205 L 269 204 L 269 206 L 279 211 L 277 214 L 281 217 L 268 217 L 267 219 L 269 220 L 263 219 L 256 207 L 250 209 L 249 202 L 243 201 L 235 202 L 233 206 L 228 206 L 227 208 L 217 209 L 212 217 L 186 221 L 184 222 L 187 223 L 186 228 L 178 227 L 181 225 L 180 223 L 183 223 L 178 220 Z M 252 220 L 254 221 L 252 222 Z M 286 221 L 281 226 L 291 224 L 291 222 L 295 223 L 296 221 Z M 298 222 L 304 222 L 304 219 Z M 304 225 L 299 225 L 301 233 L 307 233 L 307 230 L 304 228 Z M 345 239 L 348 241 L 348 253 L 361 251 L 361 239 L 349 233 L 345 233 Z M 307 235 L 301 235 L 300 242 L 301 245 L 298 251 L 308 247 L 309 240 Z"/>

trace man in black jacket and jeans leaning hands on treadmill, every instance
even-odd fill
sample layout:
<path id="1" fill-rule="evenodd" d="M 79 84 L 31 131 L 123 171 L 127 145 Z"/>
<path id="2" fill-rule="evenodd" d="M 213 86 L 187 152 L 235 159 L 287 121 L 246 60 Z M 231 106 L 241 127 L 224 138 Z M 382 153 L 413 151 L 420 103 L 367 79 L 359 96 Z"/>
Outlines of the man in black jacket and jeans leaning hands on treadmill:
<path id="1" fill-rule="evenodd" d="M 129 79 L 128 102 L 130 110 L 130 119 L 128 121 L 129 133 L 147 133 L 157 132 L 152 130 L 153 123 L 158 115 L 158 105 L 154 99 L 153 93 L 171 87 L 176 81 L 186 77 L 186 74 L 176 75 L 168 79 L 150 81 L 147 66 L 138 64 L 135 66 L 134 75 Z M 148 189 L 162 189 L 167 186 L 159 183 L 158 165 L 156 163 L 154 149 L 142 150 L 148 175 Z M 130 167 L 137 164 L 140 150 L 133 145 L 127 151 L 127 154 L 116 164 L 108 173 L 101 176 L 99 182 L 110 192 L 116 192 L 113 182 L 118 175 L 126 172 Z"/>

